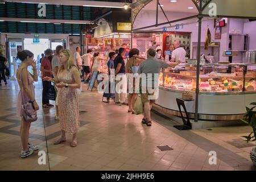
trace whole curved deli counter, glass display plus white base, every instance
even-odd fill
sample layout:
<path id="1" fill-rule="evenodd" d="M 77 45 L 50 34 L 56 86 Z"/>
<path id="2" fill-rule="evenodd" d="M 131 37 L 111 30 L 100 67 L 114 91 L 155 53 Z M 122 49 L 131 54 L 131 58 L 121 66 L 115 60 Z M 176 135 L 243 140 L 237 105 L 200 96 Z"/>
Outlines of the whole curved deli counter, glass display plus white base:
<path id="1" fill-rule="evenodd" d="M 200 64 L 199 119 L 229 121 L 243 118 L 246 106 L 256 101 L 256 64 Z M 184 93 L 195 98 L 196 64 L 182 69 L 162 69 L 159 97 L 154 107 L 179 116 L 176 98 Z M 185 102 L 194 118 L 195 100 Z"/>

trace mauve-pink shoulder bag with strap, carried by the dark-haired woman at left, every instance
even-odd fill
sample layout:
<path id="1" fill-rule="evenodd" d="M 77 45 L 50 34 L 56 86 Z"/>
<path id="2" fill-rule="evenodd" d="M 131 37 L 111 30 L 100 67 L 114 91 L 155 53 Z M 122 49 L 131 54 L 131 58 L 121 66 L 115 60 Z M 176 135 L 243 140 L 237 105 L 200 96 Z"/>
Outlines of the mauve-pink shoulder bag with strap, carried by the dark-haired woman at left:
<path id="1" fill-rule="evenodd" d="M 22 68 L 23 70 L 23 68 Z M 20 80 L 22 81 L 22 71 L 21 71 L 21 75 L 20 75 Z M 23 88 L 21 89 L 22 92 L 22 103 L 23 103 Z M 34 109 L 34 106 L 32 104 L 31 101 L 28 101 L 24 104 L 22 104 L 22 117 L 24 119 L 24 121 L 27 122 L 34 122 L 38 119 L 38 115 L 36 114 L 36 110 Z"/>

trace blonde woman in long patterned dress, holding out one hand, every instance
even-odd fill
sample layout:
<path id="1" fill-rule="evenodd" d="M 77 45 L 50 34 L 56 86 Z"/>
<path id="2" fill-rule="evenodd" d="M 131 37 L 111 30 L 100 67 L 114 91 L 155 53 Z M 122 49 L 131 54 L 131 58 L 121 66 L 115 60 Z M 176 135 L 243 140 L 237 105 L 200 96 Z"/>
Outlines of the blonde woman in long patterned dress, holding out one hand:
<path id="1" fill-rule="evenodd" d="M 60 51 L 61 67 L 56 78 L 44 77 L 43 80 L 53 81 L 59 88 L 59 115 L 61 137 L 54 144 L 66 141 L 65 134 L 73 135 L 71 147 L 77 146 L 77 131 L 79 130 L 79 96 L 80 73 L 74 64 L 73 53 L 67 49 Z"/>

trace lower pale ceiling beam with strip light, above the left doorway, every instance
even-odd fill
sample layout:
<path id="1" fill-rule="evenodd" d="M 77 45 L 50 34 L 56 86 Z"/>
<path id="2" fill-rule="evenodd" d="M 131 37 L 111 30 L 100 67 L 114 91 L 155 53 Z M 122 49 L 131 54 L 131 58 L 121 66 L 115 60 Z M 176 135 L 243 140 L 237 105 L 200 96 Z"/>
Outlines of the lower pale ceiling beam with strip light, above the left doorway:
<path id="1" fill-rule="evenodd" d="M 33 18 L 5 18 L 0 17 L 0 22 L 26 22 L 26 23 L 71 23 L 90 24 L 90 20 L 69 20 L 69 19 L 33 19 Z"/>

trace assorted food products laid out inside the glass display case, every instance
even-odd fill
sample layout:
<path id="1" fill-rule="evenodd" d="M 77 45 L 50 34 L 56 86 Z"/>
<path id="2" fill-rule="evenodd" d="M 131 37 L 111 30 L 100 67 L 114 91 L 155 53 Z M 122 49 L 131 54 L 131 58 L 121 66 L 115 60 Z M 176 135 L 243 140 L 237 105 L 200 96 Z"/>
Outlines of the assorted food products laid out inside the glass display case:
<path id="1" fill-rule="evenodd" d="M 188 65 L 186 65 L 186 67 L 188 67 Z M 218 72 L 220 67 L 221 65 L 212 64 L 211 68 L 214 68 L 213 72 L 200 75 L 199 90 L 201 92 L 242 92 L 243 76 L 237 76 L 237 73 L 241 72 L 243 64 L 225 65 L 226 70 L 224 70 L 224 67 L 221 67 L 221 69 L 223 69 L 221 73 Z M 210 66 L 207 68 L 210 68 Z M 232 70 L 232 72 L 228 73 L 228 69 L 229 71 Z M 256 69 L 250 70 L 250 73 L 246 74 L 246 91 L 256 91 L 256 82 L 249 81 L 253 78 L 254 74 L 256 74 Z M 171 69 L 165 69 L 164 72 L 159 75 L 159 85 L 177 90 L 194 91 L 196 89 L 196 71 L 186 70 L 174 73 Z"/>

